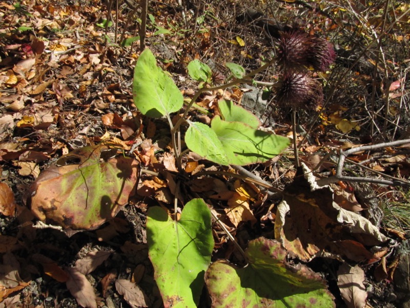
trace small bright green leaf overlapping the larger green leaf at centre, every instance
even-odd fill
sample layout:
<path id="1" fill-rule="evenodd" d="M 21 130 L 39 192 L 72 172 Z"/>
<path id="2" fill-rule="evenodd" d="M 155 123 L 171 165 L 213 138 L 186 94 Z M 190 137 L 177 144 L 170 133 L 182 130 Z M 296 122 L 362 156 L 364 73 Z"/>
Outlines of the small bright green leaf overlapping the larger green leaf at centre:
<path id="1" fill-rule="evenodd" d="M 203 158 L 221 165 L 228 165 L 228 157 L 222 143 L 208 125 L 190 122 L 185 134 L 185 143 L 188 148 Z"/>

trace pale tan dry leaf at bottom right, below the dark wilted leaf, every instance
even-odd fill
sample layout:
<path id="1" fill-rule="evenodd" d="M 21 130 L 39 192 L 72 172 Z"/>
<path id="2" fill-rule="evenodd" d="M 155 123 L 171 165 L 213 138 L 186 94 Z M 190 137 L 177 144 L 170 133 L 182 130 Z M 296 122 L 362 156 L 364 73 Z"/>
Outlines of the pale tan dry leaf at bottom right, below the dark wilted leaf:
<path id="1" fill-rule="evenodd" d="M 356 265 L 354 267 L 343 263 L 340 265 L 337 285 L 347 308 L 363 308 L 366 305 L 367 292 L 363 285 L 364 271 Z"/>

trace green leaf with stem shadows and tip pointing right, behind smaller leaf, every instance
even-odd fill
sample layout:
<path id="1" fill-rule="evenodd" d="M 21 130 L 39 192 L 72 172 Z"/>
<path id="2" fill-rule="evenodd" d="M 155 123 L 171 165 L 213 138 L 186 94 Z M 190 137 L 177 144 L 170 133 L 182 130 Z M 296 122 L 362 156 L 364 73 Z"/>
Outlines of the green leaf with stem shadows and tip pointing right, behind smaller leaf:
<path id="1" fill-rule="evenodd" d="M 290 144 L 289 138 L 257 130 L 241 122 L 222 121 L 218 116 L 212 120 L 211 128 L 233 165 L 265 162 Z"/>

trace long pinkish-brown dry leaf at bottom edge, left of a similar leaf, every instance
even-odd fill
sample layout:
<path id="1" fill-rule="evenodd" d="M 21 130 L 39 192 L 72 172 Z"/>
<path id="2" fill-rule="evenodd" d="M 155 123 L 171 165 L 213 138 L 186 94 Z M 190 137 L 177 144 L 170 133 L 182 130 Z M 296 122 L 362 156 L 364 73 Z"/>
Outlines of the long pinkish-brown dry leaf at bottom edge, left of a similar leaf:
<path id="1" fill-rule="evenodd" d="M 84 274 L 75 267 L 66 268 L 68 274 L 67 288 L 77 303 L 85 308 L 97 308 L 94 288 Z"/>

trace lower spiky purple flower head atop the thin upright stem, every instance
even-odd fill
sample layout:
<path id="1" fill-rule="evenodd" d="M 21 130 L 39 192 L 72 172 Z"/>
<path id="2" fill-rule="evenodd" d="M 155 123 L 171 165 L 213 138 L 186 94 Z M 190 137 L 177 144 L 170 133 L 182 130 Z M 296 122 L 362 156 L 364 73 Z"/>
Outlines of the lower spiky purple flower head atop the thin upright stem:
<path id="1" fill-rule="evenodd" d="M 305 73 L 284 73 L 276 94 L 278 104 L 283 108 L 314 109 L 323 101 L 321 84 Z"/>

